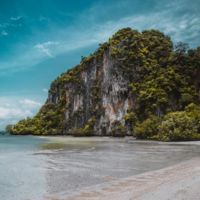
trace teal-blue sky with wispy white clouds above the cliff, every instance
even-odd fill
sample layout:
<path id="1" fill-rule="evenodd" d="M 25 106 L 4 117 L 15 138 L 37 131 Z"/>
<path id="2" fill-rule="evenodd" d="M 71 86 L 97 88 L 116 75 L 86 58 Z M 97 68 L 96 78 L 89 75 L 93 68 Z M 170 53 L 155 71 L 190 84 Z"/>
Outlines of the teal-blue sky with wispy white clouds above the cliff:
<path id="1" fill-rule="evenodd" d="M 120 28 L 200 46 L 200 0 L 0 0 L 0 130 L 33 116 L 60 73 Z"/>

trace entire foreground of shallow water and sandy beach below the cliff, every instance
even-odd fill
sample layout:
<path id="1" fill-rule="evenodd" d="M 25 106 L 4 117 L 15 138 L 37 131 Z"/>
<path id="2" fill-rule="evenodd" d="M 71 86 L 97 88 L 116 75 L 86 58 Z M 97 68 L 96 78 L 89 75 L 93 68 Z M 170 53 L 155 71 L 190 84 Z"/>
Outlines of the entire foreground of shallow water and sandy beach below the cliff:
<path id="1" fill-rule="evenodd" d="M 199 144 L 1 136 L 0 200 L 197 200 Z"/>

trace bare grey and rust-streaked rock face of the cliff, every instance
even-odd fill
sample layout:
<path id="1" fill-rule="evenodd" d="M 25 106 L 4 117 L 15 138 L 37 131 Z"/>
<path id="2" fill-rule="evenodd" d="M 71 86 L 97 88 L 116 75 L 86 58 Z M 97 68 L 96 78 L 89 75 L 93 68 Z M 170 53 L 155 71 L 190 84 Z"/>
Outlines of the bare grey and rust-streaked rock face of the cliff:
<path id="1" fill-rule="evenodd" d="M 64 84 L 65 130 L 71 133 L 95 118 L 95 135 L 110 135 L 115 125 L 125 125 L 124 115 L 133 104 L 130 98 L 129 80 L 117 66 L 110 50 L 100 60 L 92 59 L 86 69 L 77 74 L 78 81 Z M 52 93 L 56 87 L 56 92 Z M 61 87 L 52 85 L 47 104 L 59 104 Z"/>

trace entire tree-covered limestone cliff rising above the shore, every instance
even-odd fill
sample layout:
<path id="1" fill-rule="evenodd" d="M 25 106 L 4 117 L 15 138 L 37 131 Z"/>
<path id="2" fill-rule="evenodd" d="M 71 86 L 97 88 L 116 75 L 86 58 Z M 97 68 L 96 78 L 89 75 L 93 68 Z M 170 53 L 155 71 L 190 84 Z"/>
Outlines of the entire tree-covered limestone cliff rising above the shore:
<path id="1" fill-rule="evenodd" d="M 200 47 L 173 45 L 158 30 L 124 28 L 51 84 L 16 135 L 200 139 Z"/>

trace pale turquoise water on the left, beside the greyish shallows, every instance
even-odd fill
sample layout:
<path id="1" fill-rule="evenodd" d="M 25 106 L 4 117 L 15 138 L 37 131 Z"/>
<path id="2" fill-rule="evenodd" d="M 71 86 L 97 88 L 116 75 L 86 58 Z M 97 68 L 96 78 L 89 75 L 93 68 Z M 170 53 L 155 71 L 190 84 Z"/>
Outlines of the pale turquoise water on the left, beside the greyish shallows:
<path id="1" fill-rule="evenodd" d="M 45 158 L 34 152 L 45 140 L 0 136 L 0 199 L 43 199 L 46 192 Z M 37 191 L 37 192 L 36 192 Z"/>

